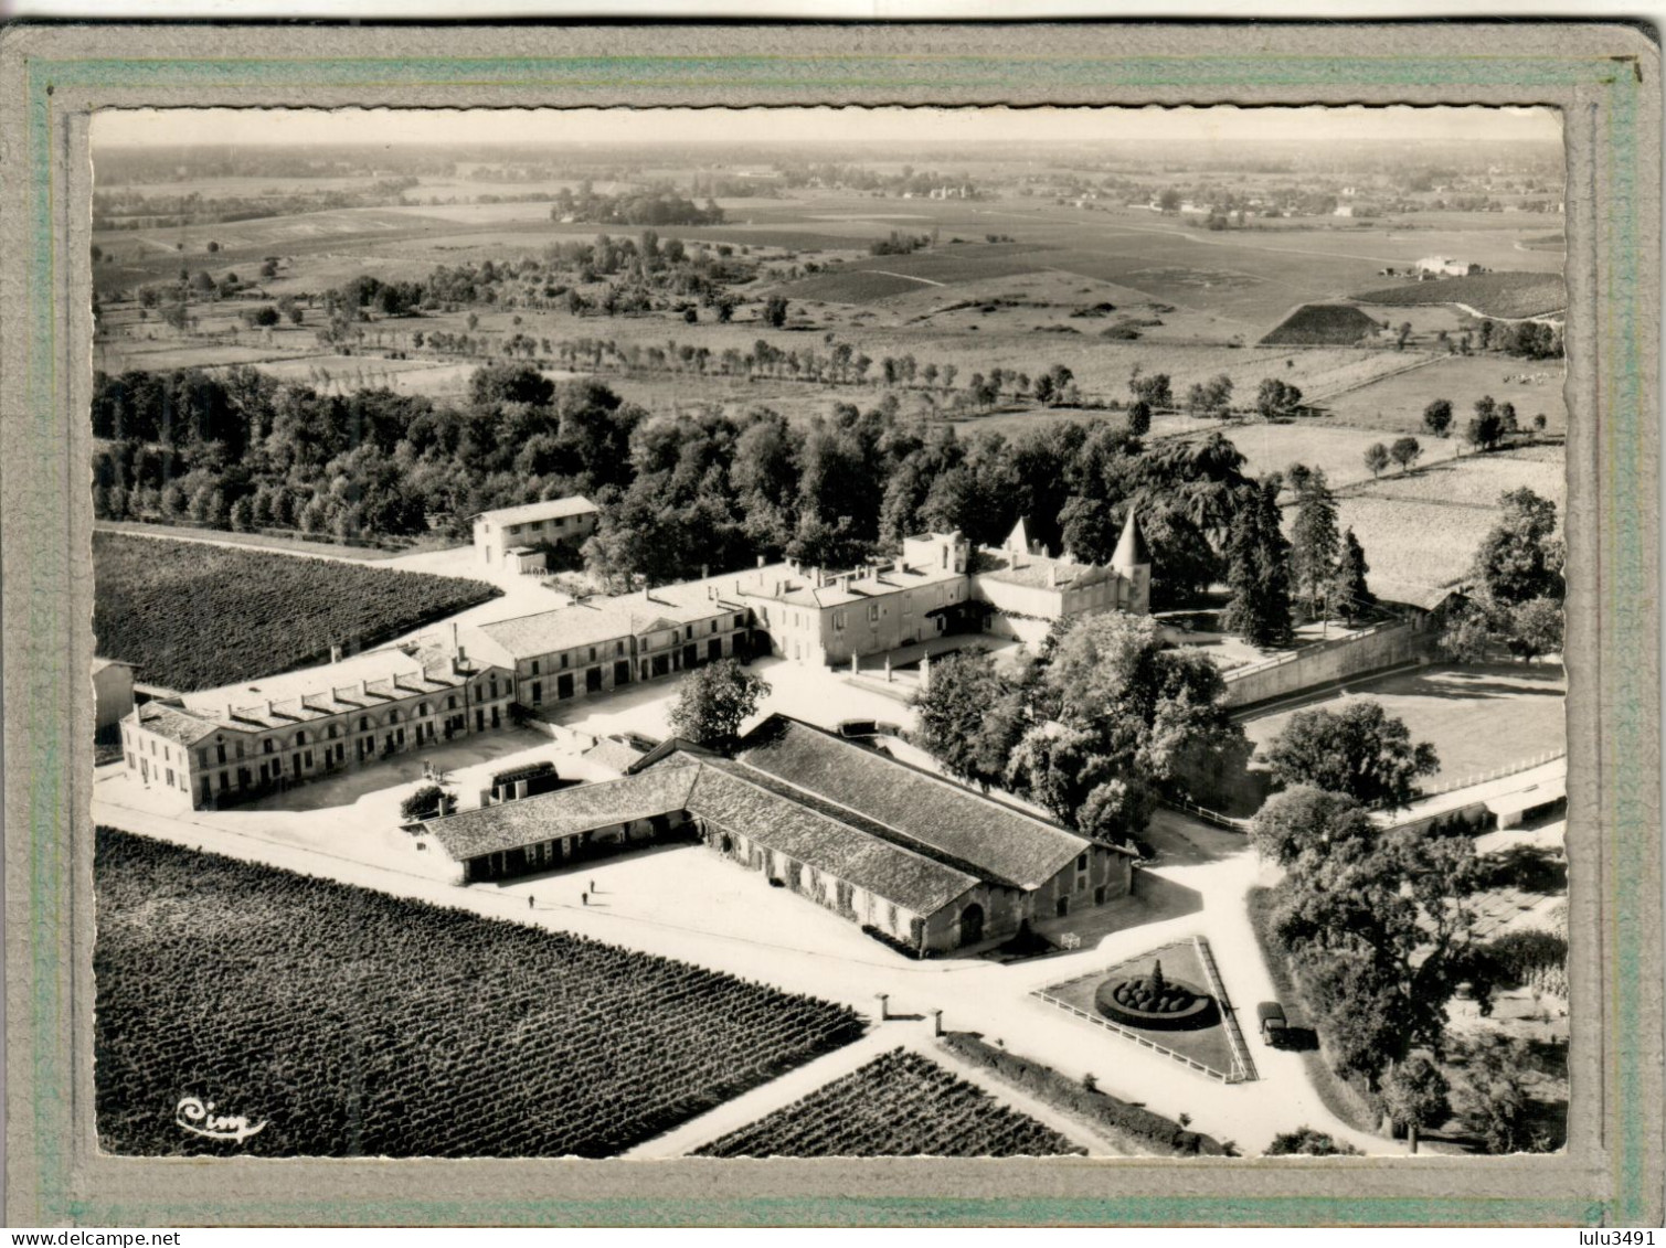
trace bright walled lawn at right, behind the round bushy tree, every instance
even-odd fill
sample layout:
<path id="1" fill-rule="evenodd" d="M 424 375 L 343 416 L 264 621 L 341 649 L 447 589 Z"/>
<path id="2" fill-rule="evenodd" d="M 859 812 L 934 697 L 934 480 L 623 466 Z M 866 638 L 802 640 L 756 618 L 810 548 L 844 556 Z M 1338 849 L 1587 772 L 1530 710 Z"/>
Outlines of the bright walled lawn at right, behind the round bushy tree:
<path id="1" fill-rule="evenodd" d="M 1361 697 L 1403 719 L 1413 740 L 1428 740 L 1441 769 L 1424 784 L 1454 784 L 1551 750 L 1566 749 L 1568 681 L 1559 666 L 1423 667 L 1369 684 L 1349 684 L 1296 707 L 1245 721 L 1264 749 L 1298 711 L 1339 711 Z"/>

